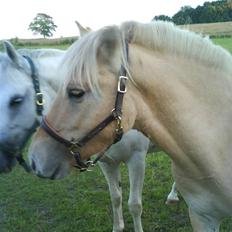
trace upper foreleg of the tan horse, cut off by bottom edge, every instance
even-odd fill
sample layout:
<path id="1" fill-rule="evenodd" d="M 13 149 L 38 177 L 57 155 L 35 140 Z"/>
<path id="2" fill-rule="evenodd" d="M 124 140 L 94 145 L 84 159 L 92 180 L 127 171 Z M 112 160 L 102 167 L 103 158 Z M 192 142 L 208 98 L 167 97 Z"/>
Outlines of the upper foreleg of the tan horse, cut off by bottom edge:
<path id="1" fill-rule="evenodd" d="M 219 220 L 205 214 L 198 214 L 191 209 L 189 209 L 189 216 L 193 232 L 219 232 Z"/>

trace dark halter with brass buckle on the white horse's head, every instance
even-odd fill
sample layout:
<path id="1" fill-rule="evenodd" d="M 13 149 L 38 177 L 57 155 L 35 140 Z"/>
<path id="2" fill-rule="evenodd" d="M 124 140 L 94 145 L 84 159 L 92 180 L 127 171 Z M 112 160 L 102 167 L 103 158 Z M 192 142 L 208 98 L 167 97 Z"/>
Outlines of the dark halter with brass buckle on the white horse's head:
<path id="1" fill-rule="evenodd" d="M 40 91 L 38 72 L 36 70 L 35 64 L 32 61 L 32 59 L 29 56 L 23 56 L 23 57 L 27 60 L 27 62 L 30 65 L 30 70 L 31 70 L 30 76 L 31 76 L 33 87 L 35 90 L 36 112 L 37 112 L 38 116 L 42 116 L 43 115 L 44 99 L 43 99 L 43 94 Z M 29 138 L 31 137 L 31 135 L 35 132 L 35 130 L 38 126 L 39 126 L 39 122 L 37 120 L 35 120 L 35 122 L 33 123 L 32 127 L 29 129 L 29 131 L 28 131 L 26 137 L 24 138 L 19 149 L 17 149 L 17 150 L 10 150 L 10 148 L 9 149 L 8 148 L 2 149 L 3 151 L 8 152 L 10 155 L 15 157 L 16 160 L 18 161 L 18 163 L 25 169 L 26 172 L 30 172 L 31 169 L 30 169 L 29 165 L 27 164 L 27 162 L 23 158 L 22 149 L 25 146 L 25 144 L 27 143 L 27 141 L 29 140 Z"/>

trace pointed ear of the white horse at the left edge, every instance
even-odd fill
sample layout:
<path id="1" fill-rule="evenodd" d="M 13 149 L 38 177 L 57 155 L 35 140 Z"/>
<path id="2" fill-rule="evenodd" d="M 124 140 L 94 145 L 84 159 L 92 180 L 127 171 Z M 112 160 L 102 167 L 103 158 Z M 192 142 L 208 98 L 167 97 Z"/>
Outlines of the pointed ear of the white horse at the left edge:
<path id="1" fill-rule="evenodd" d="M 16 51 L 14 46 L 9 41 L 3 41 L 4 49 L 6 54 L 11 59 L 11 61 L 17 66 L 24 67 L 25 60 L 24 58 Z"/>

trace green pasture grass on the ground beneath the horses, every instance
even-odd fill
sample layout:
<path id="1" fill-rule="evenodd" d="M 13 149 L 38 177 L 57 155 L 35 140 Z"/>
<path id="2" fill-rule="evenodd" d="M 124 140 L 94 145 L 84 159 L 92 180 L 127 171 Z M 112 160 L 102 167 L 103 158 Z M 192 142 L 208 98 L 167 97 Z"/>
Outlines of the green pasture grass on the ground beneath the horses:
<path id="1" fill-rule="evenodd" d="M 232 52 L 232 39 L 214 39 Z M 26 153 L 26 152 L 25 152 Z M 172 185 L 170 160 L 159 152 L 147 155 L 143 190 L 143 227 L 145 232 L 191 231 L 187 208 L 180 204 L 165 205 Z M 127 209 L 128 178 L 122 170 L 125 232 L 133 231 Z M 78 176 L 80 175 L 80 176 Z M 112 212 L 108 187 L 96 166 L 92 172 L 72 174 L 59 181 L 28 175 L 21 167 L 0 175 L 1 232 L 109 232 Z M 221 231 L 232 231 L 232 220 L 225 220 Z"/>

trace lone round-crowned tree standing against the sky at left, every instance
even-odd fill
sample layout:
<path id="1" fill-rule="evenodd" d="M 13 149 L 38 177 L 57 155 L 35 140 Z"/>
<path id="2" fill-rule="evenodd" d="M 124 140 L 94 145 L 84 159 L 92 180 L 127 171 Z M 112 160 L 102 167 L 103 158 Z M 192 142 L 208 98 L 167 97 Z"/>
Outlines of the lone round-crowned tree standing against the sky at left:
<path id="1" fill-rule="evenodd" d="M 57 26 L 53 22 L 53 18 L 44 13 L 38 13 L 30 23 L 28 30 L 41 34 L 44 38 L 53 36 Z"/>

